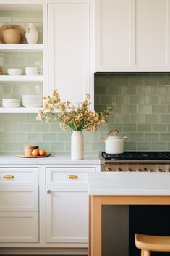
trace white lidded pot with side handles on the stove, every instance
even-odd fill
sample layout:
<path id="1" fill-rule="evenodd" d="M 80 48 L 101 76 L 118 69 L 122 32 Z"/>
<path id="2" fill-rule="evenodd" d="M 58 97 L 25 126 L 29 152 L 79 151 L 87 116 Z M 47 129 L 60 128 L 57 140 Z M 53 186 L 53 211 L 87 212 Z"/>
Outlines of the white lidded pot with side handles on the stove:
<path id="1" fill-rule="evenodd" d="M 110 134 L 113 136 L 109 136 Z M 102 138 L 105 141 L 105 152 L 106 154 L 122 154 L 124 152 L 124 141 L 127 137 L 123 137 L 118 130 L 114 129 L 109 131 L 107 138 Z"/>

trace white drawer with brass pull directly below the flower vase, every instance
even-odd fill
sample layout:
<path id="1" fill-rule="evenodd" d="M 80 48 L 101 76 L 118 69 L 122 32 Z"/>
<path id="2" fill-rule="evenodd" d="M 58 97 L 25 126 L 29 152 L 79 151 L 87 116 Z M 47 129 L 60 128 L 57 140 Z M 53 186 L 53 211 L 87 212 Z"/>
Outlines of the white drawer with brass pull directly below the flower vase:
<path id="1" fill-rule="evenodd" d="M 86 172 L 95 168 L 46 168 L 47 186 L 87 186 Z"/>

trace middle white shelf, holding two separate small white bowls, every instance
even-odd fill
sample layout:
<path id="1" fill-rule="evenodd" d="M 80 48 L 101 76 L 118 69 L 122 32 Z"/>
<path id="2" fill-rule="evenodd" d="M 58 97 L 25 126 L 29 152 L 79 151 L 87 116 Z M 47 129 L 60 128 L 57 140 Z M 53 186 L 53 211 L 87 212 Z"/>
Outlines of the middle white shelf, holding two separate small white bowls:
<path id="1" fill-rule="evenodd" d="M 43 82 L 43 75 L 0 75 L 0 82 Z"/>

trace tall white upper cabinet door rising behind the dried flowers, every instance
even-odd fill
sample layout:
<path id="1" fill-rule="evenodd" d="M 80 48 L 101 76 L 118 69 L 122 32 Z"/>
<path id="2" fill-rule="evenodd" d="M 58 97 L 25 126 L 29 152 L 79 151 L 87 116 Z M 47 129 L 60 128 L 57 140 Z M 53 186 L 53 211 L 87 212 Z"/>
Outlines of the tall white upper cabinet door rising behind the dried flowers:
<path id="1" fill-rule="evenodd" d="M 87 1 L 48 4 L 48 93 L 57 88 L 71 102 L 93 96 L 90 15 Z"/>

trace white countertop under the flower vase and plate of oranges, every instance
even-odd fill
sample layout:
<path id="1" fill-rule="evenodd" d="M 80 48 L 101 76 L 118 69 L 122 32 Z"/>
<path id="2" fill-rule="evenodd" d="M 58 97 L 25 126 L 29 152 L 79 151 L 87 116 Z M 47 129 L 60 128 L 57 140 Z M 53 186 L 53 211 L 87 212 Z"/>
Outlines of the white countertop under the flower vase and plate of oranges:
<path id="1" fill-rule="evenodd" d="M 0 155 L 0 165 L 99 165 L 98 156 L 88 156 L 82 160 L 71 160 L 70 155 L 51 155 L 50 157 L 22 158 Z"/>

